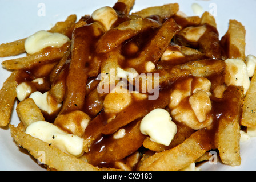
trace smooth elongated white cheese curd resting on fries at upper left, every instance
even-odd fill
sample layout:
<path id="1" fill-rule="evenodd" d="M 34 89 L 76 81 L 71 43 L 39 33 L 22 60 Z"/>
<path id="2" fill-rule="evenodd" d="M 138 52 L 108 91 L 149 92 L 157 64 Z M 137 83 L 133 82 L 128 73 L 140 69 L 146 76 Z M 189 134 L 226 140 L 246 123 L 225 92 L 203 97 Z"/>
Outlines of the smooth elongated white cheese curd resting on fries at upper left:
<path id="1" fill-rule="evenodd" d="M 25 50 L 32 55 L 49 46 L 59 48 L 69 40 L 66 35 L 41 30 L 26 39 Z"/>

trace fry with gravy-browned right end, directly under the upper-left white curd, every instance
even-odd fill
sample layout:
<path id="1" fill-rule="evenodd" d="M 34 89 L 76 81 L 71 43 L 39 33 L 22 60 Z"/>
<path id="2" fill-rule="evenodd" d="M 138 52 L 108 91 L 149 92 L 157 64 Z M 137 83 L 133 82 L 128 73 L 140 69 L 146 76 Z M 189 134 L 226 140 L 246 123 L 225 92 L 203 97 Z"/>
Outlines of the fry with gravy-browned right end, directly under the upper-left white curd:
<path id="1" fill-rule="evenodd" d="M 2 62 L 3 68 L 6 69 L 30 69 L 35 65 L 49 63 L 50 61 L 60 60 L 65 52 L 70 47 L 70 42 L 67 42 L 60 48 L 46 47 L 42 51 L 26 57 L 17 59 L 5 60 Z"/>

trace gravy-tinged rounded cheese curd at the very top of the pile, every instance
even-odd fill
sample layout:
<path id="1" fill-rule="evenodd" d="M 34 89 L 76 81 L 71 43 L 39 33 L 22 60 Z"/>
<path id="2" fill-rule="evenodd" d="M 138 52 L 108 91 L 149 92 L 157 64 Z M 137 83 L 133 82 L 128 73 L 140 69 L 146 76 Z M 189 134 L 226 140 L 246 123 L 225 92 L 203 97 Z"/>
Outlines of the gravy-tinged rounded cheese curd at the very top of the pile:
<path id="1" fill-rule="evenodd" d="M 100 22 L 105 26 L 106 31 L 110 29 L 113 23 L 118 19 L 116 11 L 109 6 L 101 7 L 98 10 L 95 10 L 91 14 L 91 18 L 95 21 Z"/>

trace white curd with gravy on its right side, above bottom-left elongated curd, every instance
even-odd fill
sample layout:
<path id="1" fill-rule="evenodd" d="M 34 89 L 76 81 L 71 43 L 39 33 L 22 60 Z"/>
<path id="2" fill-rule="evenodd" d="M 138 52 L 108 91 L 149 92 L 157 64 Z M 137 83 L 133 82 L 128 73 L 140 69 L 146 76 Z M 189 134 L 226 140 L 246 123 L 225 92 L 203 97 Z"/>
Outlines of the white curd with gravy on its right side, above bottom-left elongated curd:
<path id="1" fill-rule="evenodd" d="M 29 97 L 33 98 L 39 109 L 46 111 L 48 114 L 54 113 L 62 106 L 62 104 L 56 102 L 54 98 L 51 97 L 49 92 L 42 94 L 41 92 L 36 91 L 31 93 Z"/>

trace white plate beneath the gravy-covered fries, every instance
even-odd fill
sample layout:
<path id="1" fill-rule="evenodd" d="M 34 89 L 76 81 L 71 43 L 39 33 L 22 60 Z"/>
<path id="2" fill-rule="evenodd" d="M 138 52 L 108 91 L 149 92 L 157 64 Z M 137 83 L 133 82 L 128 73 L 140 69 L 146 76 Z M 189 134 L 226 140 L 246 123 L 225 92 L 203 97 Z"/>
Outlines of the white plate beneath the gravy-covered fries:
<path id="1" fill-rule="evenodd" d="M 1 0 L 0 1 L 0 43 L 25 38 L 38 30 L 49 30 L 56 22 L 65 20 L 70 14 L 77 14 L 78 19 L 91 14 L 102 6 L 113 6 L 115 0 Z M 219 36 L 227 31 L 229 19 L 237 19 L 246 27 L 246 55 L 256 53 L 255 19 L 256 1 L 254 0 L 137 0 L 132 11 L 138 11 L 149 6 L 159 6 L 166 3 L 178 2 L 180 10 L 187 15 L 195 15 L 191 9 L 192 3 L 198 3 L 203 11 L 210 11 L 215 15 Z M 1 58 L 0 62 L 6 58 Z M 10 59 L 8 57 L 7 59 Z M 0 68 L 0 85 L 10 75 L 9 71 Z M 1 116 L 0 116 L 1 117 Z M 17 126 L 19 119 L 15 111 L 11 124 Z M 221 163 L 205 163 L 200 166 L 203 170 L 255 170 L 256 169 L 256 140 L 241 144 L 242 164 L 230 167 Z M 10 130 L 5 127 L 0 129 L 0 170 L 45 170 L 37 161 L 20 150 L 10 135 Z"/>

